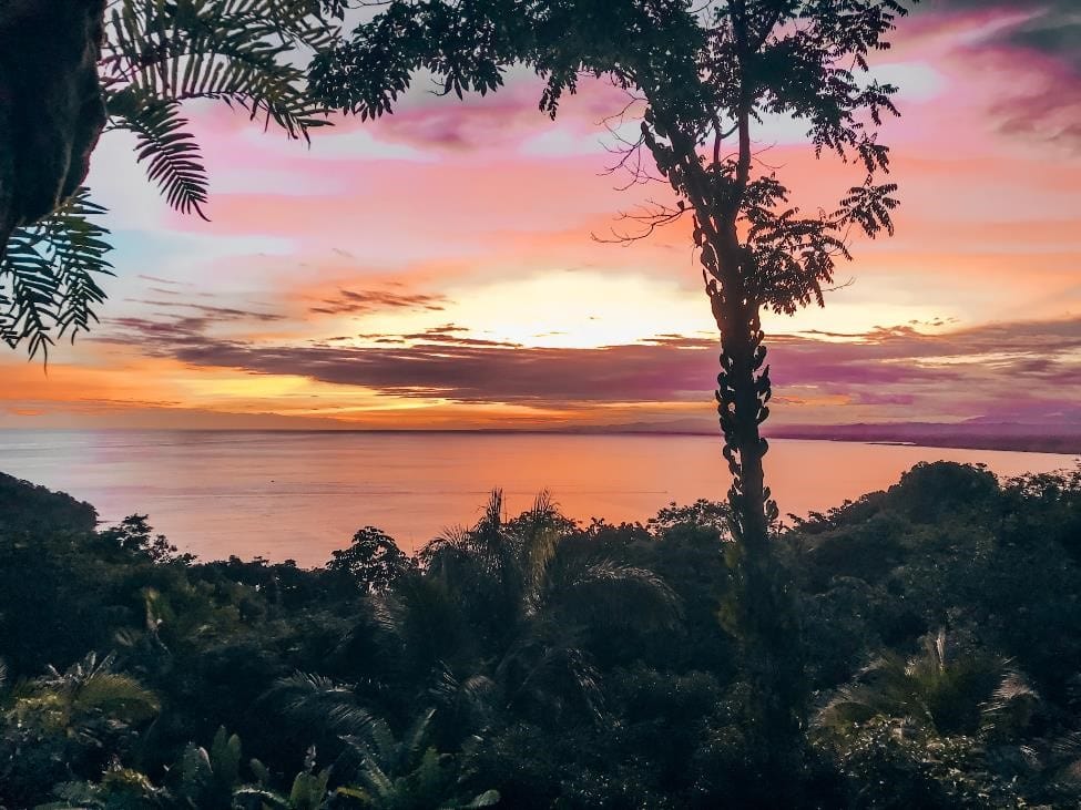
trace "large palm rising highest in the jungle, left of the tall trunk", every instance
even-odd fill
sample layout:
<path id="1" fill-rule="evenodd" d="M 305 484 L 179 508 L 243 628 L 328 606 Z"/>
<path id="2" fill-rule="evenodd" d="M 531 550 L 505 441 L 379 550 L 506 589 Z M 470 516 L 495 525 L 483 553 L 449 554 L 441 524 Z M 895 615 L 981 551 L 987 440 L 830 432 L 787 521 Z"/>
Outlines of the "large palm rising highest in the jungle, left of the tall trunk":
<path id="1" fill-rule="evenodd" d="M 447 533 L 420 553 L 424 578 L 453 594 L 465 624 L 479 633 L 481 671 L 476 660 L 471 671 L 438 662 L 436 694 L 457 700 L 448 684 L 459 684 L 476 696 L 485 691 L 478 677 L 486 677 L 504 708 L 531 707 L 550 719 L 569 708 L 595 714 L 590 636 L 671 628 L 679 598 L 653 572 L 568 542 L 572 524 L 547 493 L 514 521 L 504 522 L 502 511 L 497 490 L 476 526 Z M 419 607 L 408 592 L 396 597 L 402 619 Z"/>

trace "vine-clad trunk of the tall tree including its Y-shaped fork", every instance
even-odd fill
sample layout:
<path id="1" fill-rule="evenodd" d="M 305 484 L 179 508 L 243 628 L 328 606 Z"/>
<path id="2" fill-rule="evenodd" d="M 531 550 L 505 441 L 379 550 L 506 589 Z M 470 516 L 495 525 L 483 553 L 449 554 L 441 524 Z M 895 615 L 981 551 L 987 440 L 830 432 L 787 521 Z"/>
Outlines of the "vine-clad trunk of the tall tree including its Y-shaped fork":
<path id="1" fill-rule="evenodd" d="M 721 332 L 717 413 L 724 457 L 732 473 L 730 522 L 737 552 L 740 587 L 731 607 L 732 627 L 743 640 L 755 687 L 757 727 L 748 729 L 762 746 L 764 785 L 792 783 L 791 755 L 797 750 L 802 714 L 802 664 L 795 616 L 775 564 L 771 524 L 777 506 L 765 485 L 763 459 L 768 444 L 759 425 L 769 413 L 769 368 L 761 301 L 748 285 L 755 268 L 741 245 L 736 223 L 751 176 L 751 102 L 738 115 L 740 160 L 735 183 L 721 183 L 717 165 L 704 166 L 696 142 L 681 130 L 663 99 L 650 99 L 644 143 L 673 188 L 694 211 L 694 239 L 700 248 L 706 293 Z M 657 141 L 666 137 L 671 145 Z"/>

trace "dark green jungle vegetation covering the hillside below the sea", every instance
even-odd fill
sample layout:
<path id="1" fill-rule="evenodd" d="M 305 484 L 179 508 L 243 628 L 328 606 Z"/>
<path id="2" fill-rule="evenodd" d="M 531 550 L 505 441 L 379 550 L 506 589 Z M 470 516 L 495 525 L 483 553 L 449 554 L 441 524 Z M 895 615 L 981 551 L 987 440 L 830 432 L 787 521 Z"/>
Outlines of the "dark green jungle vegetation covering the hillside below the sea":
<path id="1" fill-rule="evenodd" d="M 784 531 L 803 731 L 782 752 L 724 505 L 501 513 L 416 558 L 364 529 L 304 571 L 198 563 L 0 479 L 0 806 L 1081 800 L 1081 471 L 922 464 Z"/>

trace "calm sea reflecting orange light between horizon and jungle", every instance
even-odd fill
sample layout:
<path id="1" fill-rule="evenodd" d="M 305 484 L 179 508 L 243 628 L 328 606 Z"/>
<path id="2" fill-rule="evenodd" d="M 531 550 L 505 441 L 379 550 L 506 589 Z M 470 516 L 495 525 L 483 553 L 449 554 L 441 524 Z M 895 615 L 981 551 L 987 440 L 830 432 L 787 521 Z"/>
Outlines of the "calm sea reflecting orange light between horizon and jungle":
<path id="1" fill-rule="evenodd" d="M 782 513 L 879 490 L 919 461 L 986 463 L 1001 475 L 1072 468 L 1069 455 L 774 441 Z M 414 550 L 472 523 L 487 493 L 511 512 L 541 490 L 588 520 L 640 521 L 672 501 L 721 500 L 717 440 L 686 435 L 0 431 L 0 471 L 69 492 L 105 521 L 149 513 L 204 560 L 230 554 L 318 565 L 376 525 Z"/>

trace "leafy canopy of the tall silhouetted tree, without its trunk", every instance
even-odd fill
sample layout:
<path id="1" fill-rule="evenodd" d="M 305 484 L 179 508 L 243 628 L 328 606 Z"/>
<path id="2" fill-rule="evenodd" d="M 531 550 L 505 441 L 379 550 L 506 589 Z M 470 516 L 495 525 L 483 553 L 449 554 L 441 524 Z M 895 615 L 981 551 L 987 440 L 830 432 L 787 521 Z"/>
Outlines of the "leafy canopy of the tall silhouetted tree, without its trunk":
<path id="1" fill-rule="evenodd" d="M 487 94 L 524 62 L 544 80 L 542 111 L 555 116 L 583 75 L 604 78 L 645 102 L 641 137 L 683 203 L 655 218 L 682 214 L 703 238 L 735 214 L 754 228 L 747 257 L 762 303 L 792 312 L 822 303 L 853 228 L 893 232 L 889 150 L 876 130 L 897 114 L 897 88 L 869 74 L 868 58 L 906 13 L 897 0 L 395 0 L 350 41 L 317 54 L 312 76 L 328 105 L 361 119 L 392 112 L 419 72 L 446 93 Z M 788 205 L 773 172 L 752 176 L 740 148 L 741 115 L 749 122 L 791 116 L 815 150 L 865 172 L 833 213 L 812 216 Z M 633 217 L 643 222 L 641 217 Z M 720 279 L 718 279 L 720 280 Z"/>

